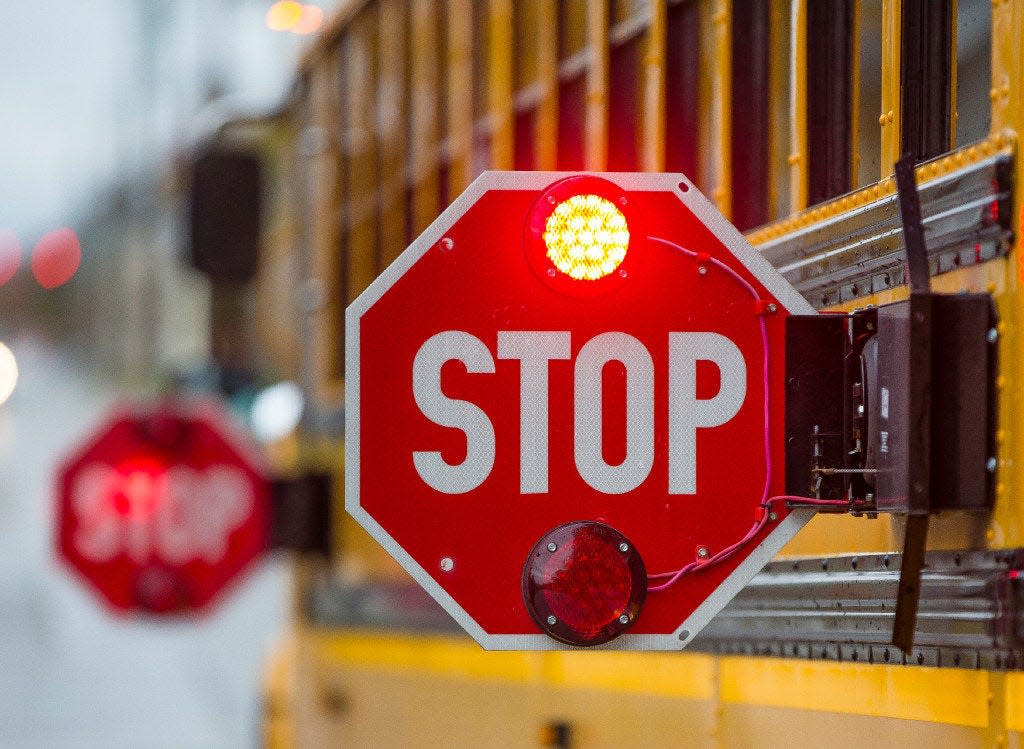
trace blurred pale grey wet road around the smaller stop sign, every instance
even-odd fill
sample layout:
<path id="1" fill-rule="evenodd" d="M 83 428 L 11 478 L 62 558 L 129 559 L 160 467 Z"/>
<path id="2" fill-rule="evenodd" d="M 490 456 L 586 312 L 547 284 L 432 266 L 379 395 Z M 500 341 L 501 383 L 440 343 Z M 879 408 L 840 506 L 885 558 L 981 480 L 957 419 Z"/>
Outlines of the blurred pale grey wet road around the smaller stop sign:
<path id="1" fill-rule="evenodd" d="M 263 561 L 209 615 L 112 616 L 58 561 L 60 458 L 118 400 L 37 340 L 0 405 L 0 747 L 249 747 L 259 682 L 286 621 L 283 560 Z"/>

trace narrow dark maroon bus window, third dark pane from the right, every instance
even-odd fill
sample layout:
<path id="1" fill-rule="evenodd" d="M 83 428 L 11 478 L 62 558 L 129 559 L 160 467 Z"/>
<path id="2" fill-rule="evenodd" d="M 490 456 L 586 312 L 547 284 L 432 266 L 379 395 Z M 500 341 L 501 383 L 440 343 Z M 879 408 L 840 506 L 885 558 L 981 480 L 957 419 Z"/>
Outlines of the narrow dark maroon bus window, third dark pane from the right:
<path id="1" fill-rule="evenodd" d="M 732 5 L 732 222 L 768 220 L 769 0 Z"/>

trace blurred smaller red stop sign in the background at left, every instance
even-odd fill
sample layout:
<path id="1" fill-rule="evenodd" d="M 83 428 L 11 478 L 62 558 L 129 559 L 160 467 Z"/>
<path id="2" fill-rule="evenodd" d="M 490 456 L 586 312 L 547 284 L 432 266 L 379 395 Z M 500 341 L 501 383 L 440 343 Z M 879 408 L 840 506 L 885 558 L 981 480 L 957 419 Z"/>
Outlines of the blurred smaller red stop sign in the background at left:
<path id="1" fill-rule="evenodd" d="M 60 555 L 119 612 L 202 610 L 266 548 L 268 485 L 212 410 L 123 412 L 57 480 Z"/>

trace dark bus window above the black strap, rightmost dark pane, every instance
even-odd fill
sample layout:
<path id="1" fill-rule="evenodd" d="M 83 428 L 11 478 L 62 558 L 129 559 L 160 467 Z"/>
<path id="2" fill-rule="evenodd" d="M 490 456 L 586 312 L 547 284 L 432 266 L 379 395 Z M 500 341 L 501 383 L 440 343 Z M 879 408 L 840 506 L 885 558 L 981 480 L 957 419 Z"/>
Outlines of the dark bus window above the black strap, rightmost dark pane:
<path id="1" fill-rule="evenodd" d="M 900 150 L 919 161 L 949 150 L 952 0 L 903 0 Z"/>

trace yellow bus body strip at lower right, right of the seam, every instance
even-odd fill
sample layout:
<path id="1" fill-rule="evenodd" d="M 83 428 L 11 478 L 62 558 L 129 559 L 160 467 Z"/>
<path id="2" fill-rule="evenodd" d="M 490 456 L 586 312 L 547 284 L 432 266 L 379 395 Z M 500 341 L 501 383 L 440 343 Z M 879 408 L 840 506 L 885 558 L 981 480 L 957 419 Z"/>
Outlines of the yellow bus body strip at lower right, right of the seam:
<path id="1" fill-rule="evenodd" d="M 987 671 L 723 658 L 724 703 L 988 725 Z"/>

